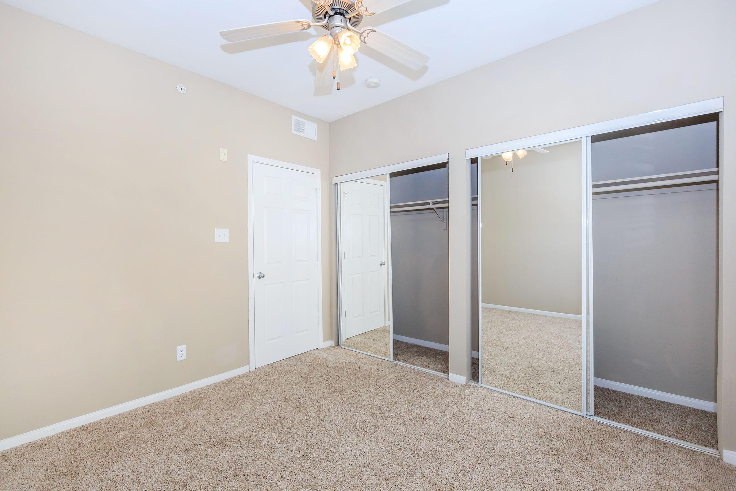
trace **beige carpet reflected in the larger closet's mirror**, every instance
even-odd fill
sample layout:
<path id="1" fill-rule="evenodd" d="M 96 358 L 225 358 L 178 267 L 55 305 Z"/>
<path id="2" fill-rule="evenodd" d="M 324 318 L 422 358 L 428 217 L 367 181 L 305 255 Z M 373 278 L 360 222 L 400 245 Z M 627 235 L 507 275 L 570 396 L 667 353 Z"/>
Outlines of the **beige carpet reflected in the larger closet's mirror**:
<path id="1" fill-rule="evenodd" d="M 582 321 L 483 308 L 483 384 L 582 409 Z"/>

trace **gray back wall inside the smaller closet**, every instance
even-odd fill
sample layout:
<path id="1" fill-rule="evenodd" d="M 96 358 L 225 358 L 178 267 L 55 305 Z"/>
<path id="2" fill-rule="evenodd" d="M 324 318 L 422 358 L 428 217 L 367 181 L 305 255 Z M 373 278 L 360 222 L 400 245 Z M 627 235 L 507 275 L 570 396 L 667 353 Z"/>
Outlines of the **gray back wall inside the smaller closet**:
<path id="1" fill-rule="evenodd" d="M 447 167 L 390 176 L 391 203 L 447 198 Z M 391 214 L 394 335 L 448 345 L 449 213 Z"/>

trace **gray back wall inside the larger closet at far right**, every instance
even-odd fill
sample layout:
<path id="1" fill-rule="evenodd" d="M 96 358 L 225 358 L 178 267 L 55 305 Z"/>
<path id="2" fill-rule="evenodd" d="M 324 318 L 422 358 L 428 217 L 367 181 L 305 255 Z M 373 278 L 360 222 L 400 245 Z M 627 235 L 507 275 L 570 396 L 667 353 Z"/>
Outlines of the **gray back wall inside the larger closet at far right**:
<path id="1" fill-rule="evenodd" d="M 716 123 L 592 144 L 592 180 L 718 166 Z M 601 194 L 592 202 L 594 375 L 715 401 L 715 185 Z"/>

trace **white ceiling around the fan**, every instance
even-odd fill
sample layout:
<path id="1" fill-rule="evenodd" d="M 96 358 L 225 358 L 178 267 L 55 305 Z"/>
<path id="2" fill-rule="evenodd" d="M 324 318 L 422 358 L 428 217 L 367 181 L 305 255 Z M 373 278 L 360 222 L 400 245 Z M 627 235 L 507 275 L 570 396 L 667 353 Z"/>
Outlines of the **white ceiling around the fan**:
<path id="1" fill-rule="evenodd" d="M 416 91 L 656 0 L 412 0 L 364 18 L 430 56 L 411 71 L 361 46 L 342 91 L 314 88 L 314 28 L 225 43 L 222 29 L 311 19 L 311 0 L 3 0 L 325 121 Z M 320 29 L 322 34 L 324 30 Z M 378 77 L 381 87 L 365 80 Z"/>

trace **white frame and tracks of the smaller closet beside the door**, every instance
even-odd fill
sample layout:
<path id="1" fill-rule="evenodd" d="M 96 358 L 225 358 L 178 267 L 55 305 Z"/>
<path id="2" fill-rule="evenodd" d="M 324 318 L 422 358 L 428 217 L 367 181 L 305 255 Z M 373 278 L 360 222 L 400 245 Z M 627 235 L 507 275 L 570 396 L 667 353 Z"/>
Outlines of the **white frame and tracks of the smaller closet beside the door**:
<path id="1" fill-rule="evenodd" d="M 402 163 L 394 163 L 390 166 L 383 166 L 378 167 L 376 169 L 369 169 L 366 171 L 360 171 L 360 172 L 353 172 L 351 174 L 342 174 L 339 176 L 335 176 L 332 178 L 332 183 L 334 186 L 335 191 L 335 214 L 336 214 L 336 220 L 335 220 L 335 236 L 336 236 L 336 247 L 337 247 L 337 278 L 336 278 L 336 285 L 337 285 L 337 338 L 338 338 L 338 345 L 340 347 L 345 348 L 346 350 L 355 351 L 357 353 L 363 353 L 364 355 L 368 356 L 374 356 L 375 358 L 381 358 L 383 360 L 392 361 L 395 364 L 404 365 L 406 367 L 411 367 L 417 370 L 422 370 L 424 372 L 434 373 L 435 375 L 440 375 L 442 377 L 447 378 L 448 375 L 444 373 L 435 372 L 434 370 L 428 370 L 422 367 L 415 367 L 414 365 L 409 365 L 406 363 L 402 363 L 401 361 L 395 361 L 394 360 L 394 300 L 393 300 L 393 272 L 392 272 L 392 256 L 391 256 L 391 178 L 390 175 L 392 172 L 399 172 L 399 171 L 405 171 L 408 169 L 419 169 L 420 167 L 426 167 L 426 166 L 434 166 L 438 163 L 445 163 L 449 160 L 450 154 L 449 153 L 442 153 L 439 155 L 433 155 L 431 157 L 425 157 L 420 158 L 416 160 L 408 160 L 407 162 Z M 388 261 L 387 266 L 389 266 L 387 274 L 389 276 L 388 280 L 388 295 L 389 300 L 387 307 L 387 316 L 386 318 L 389 320 L 389 336 L 390 337 L 390 357 L 385 358 L 383 356 L 374 355 L 373 353 L 366 353 L 364 351 L 355 350 L 354 348 L 347 347 L 343 345 L 344 342 L 344 333 L 342 330 L 342 315 L 340 313 L 344 310 L 343 302 L 344 299 L 342 298 L 342 261 L 340 258 L 342 258 L 342 232 L 340 224 L 342 223 L 342 217 L 340 216 L 340 184 L 341 183 L 347 183 L 350 181 L 355 180 L 368 180 L 371 177 L 375 177 L 378 175 L 386 174 L 386 192 L 384 194 L 384 199 L 386 200 L 386 242 L 388 246 L 386 247 L 386 261 Z M 448 208 L 449 209 L 449 208 Z"/>

